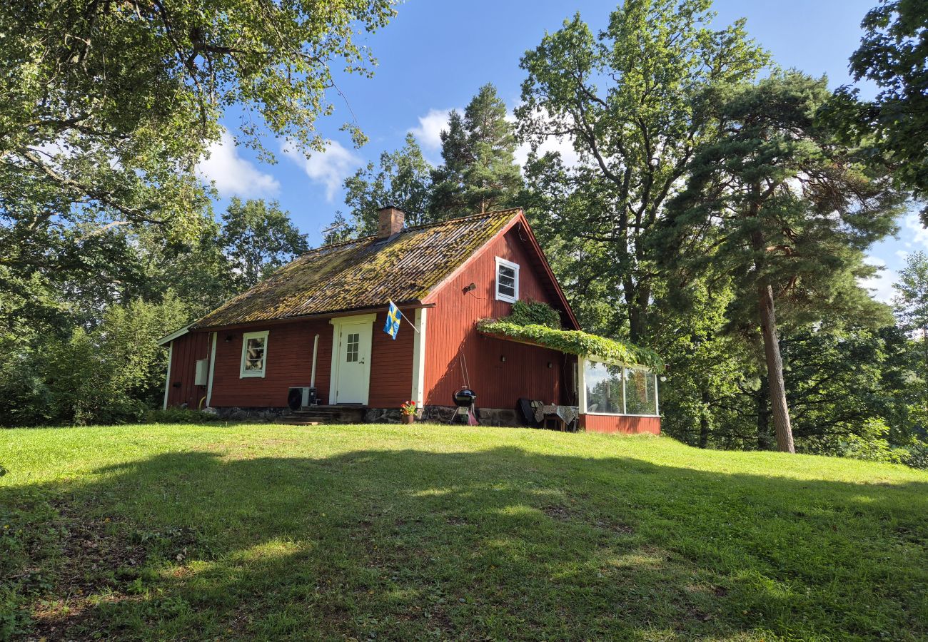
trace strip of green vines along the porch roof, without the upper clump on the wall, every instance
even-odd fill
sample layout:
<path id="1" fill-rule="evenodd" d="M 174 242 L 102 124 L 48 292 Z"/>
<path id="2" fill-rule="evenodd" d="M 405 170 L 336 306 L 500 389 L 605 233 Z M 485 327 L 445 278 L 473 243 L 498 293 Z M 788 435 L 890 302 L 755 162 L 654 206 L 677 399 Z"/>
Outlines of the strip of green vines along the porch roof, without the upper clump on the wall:
<path id="1" fill-rule="evenodd" d="M 538 325 L 522 326 L 502 319 L 483 319 L 477 327 L 487 334 L 538 343 L 562 353 L 598 356 L 606 361 L 649 366 L 654 370 L 664 365 L 657 353 L 648 348 L 641 348 L 627 341 L 606 339 L 583 330 L 561 330 Z"/>

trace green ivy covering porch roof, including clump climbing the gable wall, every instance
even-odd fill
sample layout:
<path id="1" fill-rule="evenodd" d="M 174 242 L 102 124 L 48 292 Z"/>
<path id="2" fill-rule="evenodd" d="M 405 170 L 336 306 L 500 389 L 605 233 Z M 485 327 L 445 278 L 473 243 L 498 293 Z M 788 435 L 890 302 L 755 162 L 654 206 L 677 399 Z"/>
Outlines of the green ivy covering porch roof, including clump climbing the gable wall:
<path id="1" fill-rule="evenodd" d="M 530 341 L 562 353 L 595 355 L 606 361 L 648 366 L 651 369 L 664 366 L 661 357 L 648 348 L 641 348 L 628 341 L 599 337 L 583 330 L 561 329 L 558 312 L 542 302 L 516 302 L 512 306 L 511 315 L 501 319 L 482 319 L 477 323 L 477 329 L 486 334 Z"/>

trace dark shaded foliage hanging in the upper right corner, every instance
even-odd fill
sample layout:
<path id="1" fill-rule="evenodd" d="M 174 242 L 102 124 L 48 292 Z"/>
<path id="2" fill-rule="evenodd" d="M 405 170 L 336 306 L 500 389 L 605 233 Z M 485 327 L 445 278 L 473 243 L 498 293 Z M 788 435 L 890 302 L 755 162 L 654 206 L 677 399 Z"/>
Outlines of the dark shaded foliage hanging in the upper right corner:
<path id="1" fill-rule="evenodd" d="M 879 88 L 860 102 L 857 87 L 843 86 L 830 106 L 833 121 L 852 141 L 863 140 L 875 161 L 913 194 L 928 198 L 928 5 L 920 0 L 881 0 L 860 25 L 864 37 L 851 56 L 854 80 Z M 922 210 L 928 225 L 928 208 Z"/>

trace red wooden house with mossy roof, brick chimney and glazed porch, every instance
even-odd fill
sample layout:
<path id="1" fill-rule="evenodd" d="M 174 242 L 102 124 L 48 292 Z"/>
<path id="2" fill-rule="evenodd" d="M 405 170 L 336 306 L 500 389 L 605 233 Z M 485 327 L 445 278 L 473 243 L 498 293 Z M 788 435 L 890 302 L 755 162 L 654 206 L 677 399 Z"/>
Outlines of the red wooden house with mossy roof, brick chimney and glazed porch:
<path id="1" fill-rule="evenodd" d="M 531 299 L 560 312 L 563 327 L 579 329 L 521 210 L 403 222 L 401 210 L 383 208 L 376 236 L 311 250 L 163 338 L 170 346 L 164 406 L 273 416 L 293 389 L 312 403 L 312 388 L 318 404 L 363 409 L 367 420 L 398 417 L 406 400 L 422 417 L 448 420 L 454 393 L 468 386 L 483 422 L 518 423 L 517 402 L 525 398 L 581 404 L 586 430 L 660 430 L 650 373 L 628 370 L 645 378 L 638 386 L 645 404 L 626 408 L 626 388 L 635 387 L 624 366 L 610 366 L 610 374 L 599 364 L 598 371 L 584 357 L 476 327 Z M 409 321 L 395 340 L 382 329 L 391 301 Z M 590 401 L 603 391 L 601 404 Z"/>

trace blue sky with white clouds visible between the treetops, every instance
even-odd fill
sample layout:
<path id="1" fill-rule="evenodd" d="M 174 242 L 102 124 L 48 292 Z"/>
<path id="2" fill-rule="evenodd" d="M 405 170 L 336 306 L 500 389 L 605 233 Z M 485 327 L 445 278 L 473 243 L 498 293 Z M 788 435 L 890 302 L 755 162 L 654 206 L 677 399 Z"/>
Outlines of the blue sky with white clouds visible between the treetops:
<path id="1" fill-rule="evenodd" d="M 847 83 L 847 58 L 860 39 L 860 19 L 876 0 L 716 0 L 719 23 L 747 19 L 747 30 L 783 67 L 828 75 L 832 86 Z M 351 110 L 369 143 L 352 148 L 339 131 L 350 118 L 343 103 L 319 123 L 333 141 L 329 151 L 310 160 L 278 155 L 276 165 L 261 163 L 251 150 L 230 140 L 201 166 L 213 179 L 224 207 L 232 196 L 277 199 L 293 220 L 318 244 L 320 230 L 336 210 L 344 210 L 342 180 L 384 149 L 399 148 L 406 132 L 419 137 L 426 156 L 439 159 L 438 133 L 447 111 L 462 108 L 483 83 L 494 83 L 511 109 L 519 99 L 524 74 L 522 53 L 546 30 L 579 11 L 594 29 L 601 28 L 612 2 L 553 0 L 409 0 L 386 29 L 364 40 L 379 60 L 372 79 L 339 80 Z M 865 93 L 867 92 L 865 88 Z M 230 122 L 230 124 L 234 124 Z M 268 147 L 277 150 L 276 141 Z M 218 209 L 218 208 L 217 208 Z M 900 238 L 874 247 L 871 261 L 886 269 L 868 285 L 885 300 L 892 294 L 895 270 L 906 252 L 928 250 L 928 231 L 914 213 L 900 221 Z"/>

